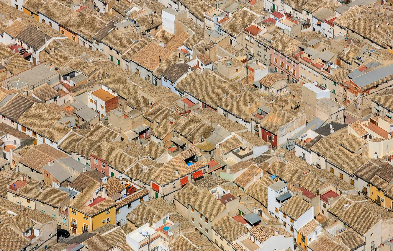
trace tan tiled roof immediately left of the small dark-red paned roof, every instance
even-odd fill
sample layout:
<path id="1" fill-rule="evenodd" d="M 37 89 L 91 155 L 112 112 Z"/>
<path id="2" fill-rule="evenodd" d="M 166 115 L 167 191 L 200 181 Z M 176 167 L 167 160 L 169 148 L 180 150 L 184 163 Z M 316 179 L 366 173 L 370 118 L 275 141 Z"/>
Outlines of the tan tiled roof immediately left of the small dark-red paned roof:
<path id="1" fill-rule="evenodd" d="M 226 209 L 224 204 L 206 188 L 203 188 L 198 194 L 195 194 L 191 198 L 189 204 L 210 221 L 215 220 L 215 218 Z"/>

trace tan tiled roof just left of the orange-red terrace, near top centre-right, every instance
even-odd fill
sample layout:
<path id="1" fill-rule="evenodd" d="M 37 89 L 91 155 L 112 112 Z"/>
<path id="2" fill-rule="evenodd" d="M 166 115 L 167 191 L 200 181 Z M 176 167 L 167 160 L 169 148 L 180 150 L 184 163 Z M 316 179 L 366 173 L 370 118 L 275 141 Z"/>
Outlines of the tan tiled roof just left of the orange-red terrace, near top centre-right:
<path id="1" fill-rule="evenodd" d="M 257 15 L 242 9 L 234 13 L 229 20 L 222 23 L 221 30 L 236 37 L 242 32 L 243 28 L 250 25 L 257 17 Z"/>

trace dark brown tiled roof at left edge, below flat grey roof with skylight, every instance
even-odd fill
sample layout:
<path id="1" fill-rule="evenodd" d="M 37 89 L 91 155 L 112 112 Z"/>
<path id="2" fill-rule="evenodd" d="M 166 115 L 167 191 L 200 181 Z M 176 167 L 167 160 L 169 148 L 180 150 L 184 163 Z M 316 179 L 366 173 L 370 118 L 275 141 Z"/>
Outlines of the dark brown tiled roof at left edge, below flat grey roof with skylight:
<path id="1" fill-rule="evenodd" d="M 17 120 L 34 102 L 17 94 L 0 109 L 0 114 L 11 120 Z"/>

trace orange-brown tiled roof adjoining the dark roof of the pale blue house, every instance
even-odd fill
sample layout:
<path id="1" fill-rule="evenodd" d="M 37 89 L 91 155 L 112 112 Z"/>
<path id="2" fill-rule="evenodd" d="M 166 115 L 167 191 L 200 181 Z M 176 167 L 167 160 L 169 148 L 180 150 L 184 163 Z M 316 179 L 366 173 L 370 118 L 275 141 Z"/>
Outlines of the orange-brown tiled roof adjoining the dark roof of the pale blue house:
<path id="1" fill-rule="evenodd" d="M 150 71 L 155 70 L 160 65 L 159 57 L 161 62 L 165 61 L 172 53 L 159 46 L 154 42 L 150 42 L 143 47 L 139 52 L 130 57 L 130 60 L 134 61 L 138 65 L 147 68 Z"/>

